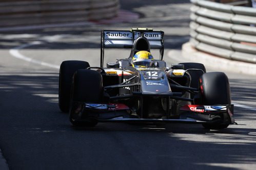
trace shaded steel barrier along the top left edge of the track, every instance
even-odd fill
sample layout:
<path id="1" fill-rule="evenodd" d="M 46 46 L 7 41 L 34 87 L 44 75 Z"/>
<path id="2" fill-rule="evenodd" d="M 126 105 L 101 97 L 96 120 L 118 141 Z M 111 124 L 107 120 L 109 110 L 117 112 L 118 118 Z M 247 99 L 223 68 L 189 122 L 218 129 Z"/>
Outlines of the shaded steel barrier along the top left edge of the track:
<path id="1" fill-rule="evenodd" d="M 0 27 L 108 19 L 119 0 L 16 0 L 0 2 Z"/>

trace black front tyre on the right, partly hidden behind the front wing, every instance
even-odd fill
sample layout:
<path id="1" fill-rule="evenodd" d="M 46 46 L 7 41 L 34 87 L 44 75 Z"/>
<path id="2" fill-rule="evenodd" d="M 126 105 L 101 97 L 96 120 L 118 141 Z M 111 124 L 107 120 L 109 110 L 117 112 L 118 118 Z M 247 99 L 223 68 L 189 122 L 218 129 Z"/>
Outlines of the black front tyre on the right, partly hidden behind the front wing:
<path id="1" fill-rule="evenodd" d="M 231 104 L 229 81 L 224 72 L 207 72 L 203 74 L 200 79 L 200 91 L 203 105 Z M 218 115 L 215 116 L 216 123 L 202 125 L 206 129 L 224 129 L 229 126 L 229 123 L 223 121 L 226 119 L 228 119 L 227 115 Z"/>

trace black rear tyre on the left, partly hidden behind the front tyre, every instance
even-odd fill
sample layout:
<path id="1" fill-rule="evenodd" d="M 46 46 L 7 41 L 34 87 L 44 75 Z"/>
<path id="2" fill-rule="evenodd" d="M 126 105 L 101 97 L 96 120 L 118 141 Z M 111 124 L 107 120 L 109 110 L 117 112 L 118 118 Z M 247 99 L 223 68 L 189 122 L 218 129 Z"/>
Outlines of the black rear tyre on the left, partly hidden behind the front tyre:
<path id="1" fill-rule="evenodd" d="M 89 67 L 86 61 L 63 61 L 60 67 L 58 83 L 58 105 L 62 112 L 69 112 L 70 91 L 72 77 L 77 69 L 86 69 Z"/>

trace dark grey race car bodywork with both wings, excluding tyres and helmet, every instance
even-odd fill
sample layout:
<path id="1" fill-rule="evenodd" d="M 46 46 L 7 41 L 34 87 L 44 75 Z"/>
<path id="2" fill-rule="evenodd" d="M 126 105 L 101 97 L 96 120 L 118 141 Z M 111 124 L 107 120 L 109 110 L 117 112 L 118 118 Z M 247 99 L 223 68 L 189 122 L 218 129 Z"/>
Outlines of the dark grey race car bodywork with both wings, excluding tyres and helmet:
<path id="1" fill-rule="evenodd" d="M 102 31 L 101 63 L 96 69 L 103 79 L 103 100 L 101 103 L 73 101 L 70 109 L 70 119 L 73 122 L 184 122 L 200 124 L 233 124 L 233 105 L 203 105 L 199 87 L 191 87 L 192 78 L 189 71 L 203 74 L 202 69 L 184 70 L 184 65 L 178 64 L 168 68 L 163 61 L 164 32 L 156 32 L 161 37 L 148 40 L 155 32 L 147 29 L 134 29 L 130 42 L 126 39 L 117 40 L 117 45 L 109 43 L 106 33 L 119 35 L 128 34 L 124 31 Z M 139 34 L 135 36 L 134 34 Z M 114 35 L 114 34 L 113 34 Z M 152 42 L 157 41 L 157 43 Z M 150 44 L 150 42 L 156 45 Z M 108 46 L 110 45 L 110 46 Z M 131 54 L 126 59 L 116 63 L 104 64 L 104 50 L 107 47 L 131 48 Z M 133 55 L 141 50 L 150 52 L 151 48 L 160 50 L 160 58 L 154 60 L 149 68 L 134 68 L 131 66 Z M 199 80 L 196 80 L 199 81 Z M 85 87 L 90 89 L 90 87 Z"/>

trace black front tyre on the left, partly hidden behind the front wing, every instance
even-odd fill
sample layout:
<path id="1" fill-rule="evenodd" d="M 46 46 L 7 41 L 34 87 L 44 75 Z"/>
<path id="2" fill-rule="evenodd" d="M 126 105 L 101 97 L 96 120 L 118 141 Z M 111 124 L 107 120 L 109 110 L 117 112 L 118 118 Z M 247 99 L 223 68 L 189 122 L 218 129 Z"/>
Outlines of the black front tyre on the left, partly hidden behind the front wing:
<path id="1" fill-rule="evenodd" d="M 73 102 L 102 103 L 103 101 L 103 81 L 102 75 L 95 70 L 78 69 L 73 77 L 71 104 Z M 83 122 L 73 118 L 70 112 L 70 122 L 74 126 L 93 127 L 97 120 L 93 117 L 83 118 Z"/>

